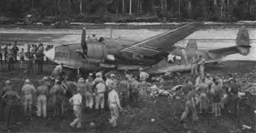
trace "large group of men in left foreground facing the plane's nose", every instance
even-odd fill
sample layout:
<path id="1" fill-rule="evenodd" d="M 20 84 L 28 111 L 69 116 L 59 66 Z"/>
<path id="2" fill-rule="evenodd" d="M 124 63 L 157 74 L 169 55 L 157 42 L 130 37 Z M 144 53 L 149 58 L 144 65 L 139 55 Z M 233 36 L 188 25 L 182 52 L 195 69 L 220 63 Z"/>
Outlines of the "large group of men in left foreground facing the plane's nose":
<path id="1" fill-rule="evenodd" d="M 70 85 L 71 81 L 67 80 L 67 76 L 62 72 L 62 65 L 56 66 L 51 77 L 45 76 L 39 80 L 39 85 L 35 85 L 25 79 L 25 83 L 21 88 L 21 94 L 12 86 L 11 81 L 7 80 L 2 92 L 1 108 L 8 108 L 5 115 L 7 125 L 10 125 L 10 119 L 13 112 L 13 106 L 17 101 L 22 99 L 24 105 L 24 114 L 27 119 L 31 118 L 33 103 L 36 102 L 37 116 L 46 118 L 48 115 L 47 103 L 54 104 L 54 117 L 61 116 L 65 112 L 65 108 L 73 106 L 75 120 L 70 124 L 72 127 L 81 127 L 82 107 L 85 107 L 87 113 L 98 110 L 101 113 L 104 109 L 109 109 L 111 113 L 110 123 L 113 127 L 117 126 L 117 118 L 119 109 L 129 104 L 135 103 L 143 99 L 145 95 L 145 81 L 148 74 L 140 69 L 139 80 L 129 72 L 124 73 L 121 78 L 115 74 L 105 75 L 105 80 L 101 72 L 94 75 L 89 74 L 86 80 L 79 75 L 75 87 Z M 56 71 L 57 70 L 57 71 Z M 37 97 L 37 101 L 33 97 Z M 69 101 L 69 102 L 68 102 Z M 68 104 L 70 103 L 70 104 Z M 94 107 L 94 108 L 93 108 Z"/>

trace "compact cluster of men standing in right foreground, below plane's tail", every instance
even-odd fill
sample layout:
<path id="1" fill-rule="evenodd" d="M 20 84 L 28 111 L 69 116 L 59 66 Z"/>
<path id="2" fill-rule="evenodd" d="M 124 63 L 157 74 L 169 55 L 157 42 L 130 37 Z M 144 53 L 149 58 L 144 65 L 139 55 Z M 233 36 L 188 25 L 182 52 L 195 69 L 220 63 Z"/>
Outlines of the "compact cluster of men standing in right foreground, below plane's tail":
<path id="1" fill-rule="evenodd" d="M 214 74 L 199 75 L 195 84 L 187 78 L 182 89 L 186 102 L 181 122 L 185 122 L 190 112 L 193 120 L 198 120 L 197 110 L 199 114 L 211 113 L 219 117 L 221 108 L 226 107 L 228 113 L 238 115 L 239 88 L 236 79 L 230 75 L 225 79 Z"/>

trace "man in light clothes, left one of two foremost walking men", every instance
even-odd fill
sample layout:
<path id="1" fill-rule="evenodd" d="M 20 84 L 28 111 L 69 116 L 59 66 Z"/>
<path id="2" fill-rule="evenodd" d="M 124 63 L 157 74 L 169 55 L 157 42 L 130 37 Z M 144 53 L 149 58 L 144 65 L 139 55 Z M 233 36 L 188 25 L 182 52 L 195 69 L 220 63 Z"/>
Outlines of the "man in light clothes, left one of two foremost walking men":
<path id="1" fill-rule="evenodd" d="M 77 94 L 69 99 L 69 102 L 73 105 L 74 114 L 76 116 L 76 119 L 70 126 L 74 127 L 77 124 L 76 128 L 81 128 L 82 95 L 80 91 L 81 90 L 77 90 Z"/>

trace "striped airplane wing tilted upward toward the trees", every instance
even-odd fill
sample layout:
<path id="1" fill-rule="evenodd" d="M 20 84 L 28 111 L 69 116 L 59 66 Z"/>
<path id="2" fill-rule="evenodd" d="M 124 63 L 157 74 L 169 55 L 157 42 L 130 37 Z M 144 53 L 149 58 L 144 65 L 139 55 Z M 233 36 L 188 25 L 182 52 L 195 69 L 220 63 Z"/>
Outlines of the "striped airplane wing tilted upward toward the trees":
<path id="1" fill-rule="evenodd" d="M 197 31 L 199 24 L 200 23 L 190 23 L 184 25 L 177 29 L 137 42 L 120 51 L 152 57 L 161 52 L 170 52 L 173 50 L 173 47 L 170 46 L 173 46 L 179 40 Z"/>

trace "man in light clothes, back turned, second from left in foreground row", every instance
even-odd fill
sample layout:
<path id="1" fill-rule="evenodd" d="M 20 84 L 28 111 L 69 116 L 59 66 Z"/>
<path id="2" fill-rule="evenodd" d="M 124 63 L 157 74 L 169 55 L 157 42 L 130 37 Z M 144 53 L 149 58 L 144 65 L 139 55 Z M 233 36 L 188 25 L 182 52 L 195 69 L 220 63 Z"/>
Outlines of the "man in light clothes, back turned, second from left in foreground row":
<path id="1" fill-rule="evenodd" d="M 24 113 L 30 119 L 33 98 L 32 95 L 36 92 L 35 87 L 32 85 L 29 79 L 25 80 L 25 84 L 22 87 Z M 29 110 L 28 110 L 29 108 Z"/>

